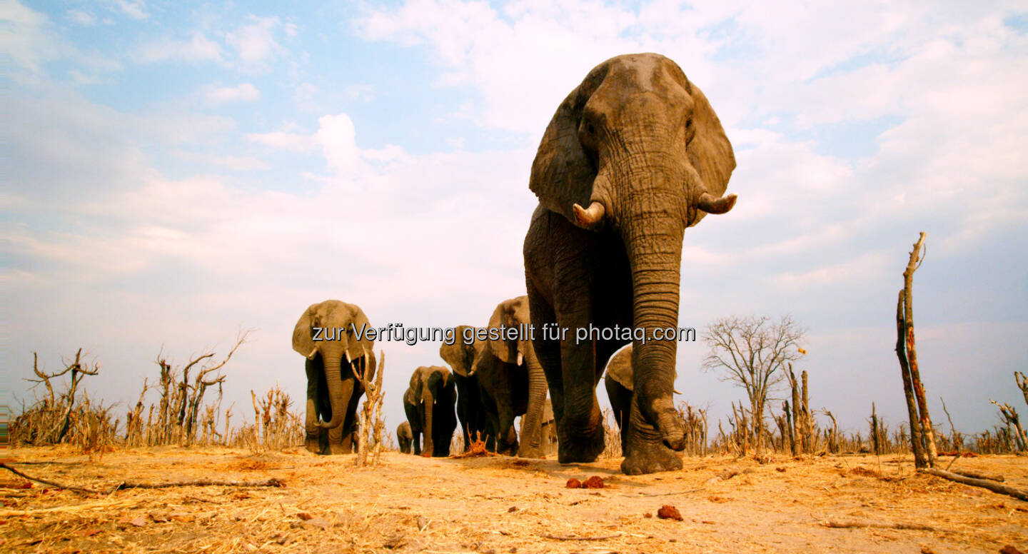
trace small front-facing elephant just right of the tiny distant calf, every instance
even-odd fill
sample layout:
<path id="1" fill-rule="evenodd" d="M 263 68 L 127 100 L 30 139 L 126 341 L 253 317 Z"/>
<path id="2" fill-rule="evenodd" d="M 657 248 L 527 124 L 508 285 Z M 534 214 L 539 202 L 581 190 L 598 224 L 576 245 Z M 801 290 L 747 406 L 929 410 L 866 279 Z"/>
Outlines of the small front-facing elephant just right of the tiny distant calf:
<path id="1" fill-rule="evenodd" d="M 403 410 L 413 435 L 414 454 L 448 456 L 450 439 L 456 429 L 453 402 L 456 390 L 449 370 L 441 366 L 421 366 L 410 376 L 410 386 L 403 394 Z M 425 434 L 425 447 L 421 447 Z"/>

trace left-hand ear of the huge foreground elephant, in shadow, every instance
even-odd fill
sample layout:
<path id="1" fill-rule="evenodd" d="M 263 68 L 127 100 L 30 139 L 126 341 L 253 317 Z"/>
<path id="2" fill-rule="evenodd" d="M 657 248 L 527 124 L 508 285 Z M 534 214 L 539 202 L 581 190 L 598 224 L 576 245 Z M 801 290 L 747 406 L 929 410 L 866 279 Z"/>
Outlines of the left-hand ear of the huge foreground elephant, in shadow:
<path id="1" fill-rule="evenodd" d="M 528 188 L 536 193 L 541 205 L 564 216 L 574 225 L 579 223 L 572 207 L 576 204 L 589 206 L 592 183 L 596 178 L 593 162 L 579 140 L 582 109 L 603 81 L 609 67 L 610 60 L 593 68 L 560 103 L 531 162 Z"/>

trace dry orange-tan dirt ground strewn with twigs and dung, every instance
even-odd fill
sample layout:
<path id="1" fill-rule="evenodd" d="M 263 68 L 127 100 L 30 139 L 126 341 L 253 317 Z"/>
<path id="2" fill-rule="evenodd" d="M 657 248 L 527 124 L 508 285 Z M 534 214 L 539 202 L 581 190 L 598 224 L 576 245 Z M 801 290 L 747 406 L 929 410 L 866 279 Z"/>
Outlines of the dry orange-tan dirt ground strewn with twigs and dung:
<path id="1" fill-rule="evenodd" d="M 944 458 L 948 463 L 950 458 Z M 136 449 L 89 461 L 16 449 L 32 476 L 110 490 L 125 480 L 246 481 L 80 494 L 3 471 L 3 552 L 999 552 L 1028 550 L 1028 503 L 916 475 L 909 457 L 686 457 L 681 472 L 621 475 L 620 459 L 561 466 L 389 452 L 377 469 L 299 449 Z M 33 461 L 34 464 L 16 464 Z M 960 458 L 1028 488 L 1028 458 Z M 734 476 L 727 479 L 718 476 Z M 601 489 L 565 488 L 599 476 Z M 661 519 L 674 506 L 683 520 Z M 855 524 L 856 527 L 838 527 Z M 1008 551 L 1015 552 L 1015 551 Z"/>

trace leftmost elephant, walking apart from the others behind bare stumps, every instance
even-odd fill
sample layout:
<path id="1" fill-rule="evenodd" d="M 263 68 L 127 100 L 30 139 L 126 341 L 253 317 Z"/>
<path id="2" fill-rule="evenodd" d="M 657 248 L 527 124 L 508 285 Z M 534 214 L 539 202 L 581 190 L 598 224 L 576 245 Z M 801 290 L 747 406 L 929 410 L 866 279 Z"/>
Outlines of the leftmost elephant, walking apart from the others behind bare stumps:
<path id="1" fill-rule="evenodd" d="M 293 329 L 293 349 L 306 358 L 307 450 L 345 454 L 353 450 L 357 404 L 364 394 L 360 376 L 374 378 L 374 341 L 361 336 L 370 328 L 355 304 L 325 300 L 310 304 Z M 328 437 L 326 439 L 325 434 Z"/>

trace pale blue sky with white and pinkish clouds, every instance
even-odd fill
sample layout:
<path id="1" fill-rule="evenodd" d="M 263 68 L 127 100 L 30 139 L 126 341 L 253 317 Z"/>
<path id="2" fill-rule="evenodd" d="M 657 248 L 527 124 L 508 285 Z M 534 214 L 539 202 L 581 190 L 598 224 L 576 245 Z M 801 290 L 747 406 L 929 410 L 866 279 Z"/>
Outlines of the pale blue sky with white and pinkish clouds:
<path id="1" fill-rule="evenodd" d="M 914 306 L 935 419 L 944 397 L 961 431 L 991 428 L 989 399 L 1021 406 L 1028 367 L 1026 12 L 767 4 L 0 3 L 0 389 L 31 396 L 32 352 L 54 369 L 82 346 L 90 394 L 126 402 L 161 346 L 181 363 L 242 326 L 226 403 L 277 380 L 300 401 L 290 337 L 313 302 L 484 325 L 524 292 L 553 110 L 607 58 L 658 51 L 738 161 L 736 209 L 686 233 L 681 323 L 792 313 L 812 403 L 864 430 L 876 402 L 894 427 L 895 297 L 926 231 Z M 395 424 L 410 372 L 441 360 L 380 347 Z M 743 393 L 705 353 L 681 345 L 676 386 L 721 416 Z"/>

